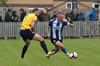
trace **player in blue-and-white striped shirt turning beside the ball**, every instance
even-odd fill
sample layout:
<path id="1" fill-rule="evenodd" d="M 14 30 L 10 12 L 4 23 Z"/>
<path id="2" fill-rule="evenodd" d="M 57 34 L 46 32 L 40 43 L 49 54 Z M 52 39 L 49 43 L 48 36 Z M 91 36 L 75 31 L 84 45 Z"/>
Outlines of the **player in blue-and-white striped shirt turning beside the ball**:
<path id="1" fill-rule="evenodd" d="M 49 22 L 49 25 L 47 27 L 47 34 L 48 37 L 50 38 L 51 42 L 55 45 L 55 49 L 50 51 L 46 56 L 49 57 L 50 55 L 53 55 L 57 53 L 60 49 L 67 55 L 69 56 L 69 53 L 67 52 L 66 48 L 64 47 L 64 44 L 62 43 L 62 30 L 64 26 L 71 26 L 73 27 L 74 25 L 64 21 L 64 15 L 62 12 L 59 12 L 57 14 L 57 18 L 52 19 Z M 49 31 L 50 29 L 50 31 Z"/>

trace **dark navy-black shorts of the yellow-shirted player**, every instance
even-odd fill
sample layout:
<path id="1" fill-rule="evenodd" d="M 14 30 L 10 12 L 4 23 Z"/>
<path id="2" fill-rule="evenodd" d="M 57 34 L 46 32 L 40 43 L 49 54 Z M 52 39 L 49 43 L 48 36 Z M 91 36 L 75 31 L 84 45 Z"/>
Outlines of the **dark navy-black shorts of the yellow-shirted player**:
<path id="1" fill-rule="evenodd" d="M 27 39 L 32 40 L 35 33 L 30 30 L 20 30 L 20 36 L 23 38 L 24 41 Z"/>

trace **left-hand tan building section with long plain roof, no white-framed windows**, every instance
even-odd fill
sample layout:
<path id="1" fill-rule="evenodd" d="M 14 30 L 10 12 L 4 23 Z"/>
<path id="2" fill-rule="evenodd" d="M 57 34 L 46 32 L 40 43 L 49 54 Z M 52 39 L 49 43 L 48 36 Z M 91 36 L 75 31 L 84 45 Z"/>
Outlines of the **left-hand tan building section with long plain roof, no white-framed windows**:
<path id="1" fill-rule="evenodd" d="M 6 7 L 14 7 L 14 8 L 51 8 L 53 7 L 53 0 L 8 0 L 6 3 Z"/>

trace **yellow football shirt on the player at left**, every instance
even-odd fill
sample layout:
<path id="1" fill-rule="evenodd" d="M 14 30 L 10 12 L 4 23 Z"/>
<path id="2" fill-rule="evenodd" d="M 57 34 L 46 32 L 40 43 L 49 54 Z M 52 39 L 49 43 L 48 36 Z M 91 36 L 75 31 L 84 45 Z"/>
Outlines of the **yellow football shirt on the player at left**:
<path id="1" fill-rule="evenodd" d="M 21 25 L 21 30 L 29 29 L 31 30 L 31 25 L 33 20 L 37 21 L 37 16 L 34 13 L 28 14 L 24 17 L 22 25 Z"/>

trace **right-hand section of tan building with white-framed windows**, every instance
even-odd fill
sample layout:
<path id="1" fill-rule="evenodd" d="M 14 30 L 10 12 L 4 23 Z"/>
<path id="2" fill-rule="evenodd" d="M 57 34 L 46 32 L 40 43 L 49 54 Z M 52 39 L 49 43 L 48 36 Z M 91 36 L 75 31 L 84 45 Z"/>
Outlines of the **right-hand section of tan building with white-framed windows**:
<path id="1" fill-rule="evenodd" d="M 95 8 L 96 6 L 100 8 L 100 0 L 54 0 L 53 6 L 63 3 L 58 8 L 72 8 L 72 2 L 74 8 Z"/>

